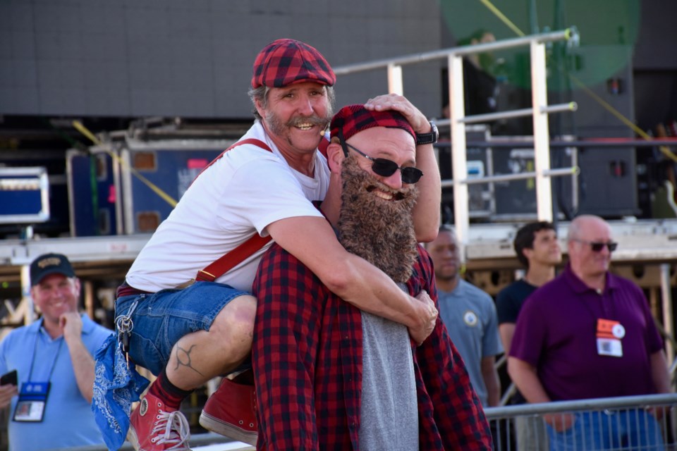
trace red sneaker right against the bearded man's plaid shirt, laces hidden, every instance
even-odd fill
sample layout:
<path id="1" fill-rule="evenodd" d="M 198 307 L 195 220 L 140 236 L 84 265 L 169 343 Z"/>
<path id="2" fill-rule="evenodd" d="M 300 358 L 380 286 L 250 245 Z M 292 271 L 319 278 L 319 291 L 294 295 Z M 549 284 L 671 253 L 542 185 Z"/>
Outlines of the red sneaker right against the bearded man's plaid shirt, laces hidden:
<path id="1" fill-rule="evenodd" d="M 200 414 L 200 425 L 209 431 L 256 446 L 259 432 L 254 385 L 241 385 L 224 378 L 218 390 L 205 402 Z"/>

